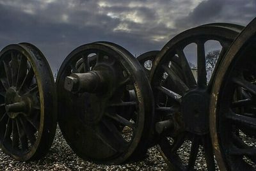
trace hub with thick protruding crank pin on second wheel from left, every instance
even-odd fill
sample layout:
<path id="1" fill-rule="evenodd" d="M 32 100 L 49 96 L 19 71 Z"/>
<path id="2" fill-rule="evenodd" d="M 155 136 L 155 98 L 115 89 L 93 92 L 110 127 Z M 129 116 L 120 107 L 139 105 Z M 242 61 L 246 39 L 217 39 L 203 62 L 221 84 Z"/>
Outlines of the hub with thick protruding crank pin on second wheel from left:
<path id="1" fill-rule="evenodd" d="M 81 115 L 86 124 L 97 124 L 102 119 L 108 98 L 113 91 L 113 71 L 108 66 L 95 67 L 97 70 L 74 73 L 65 79 L 65 89 L 72 93 L 84 93 L 84 111 Z"/>

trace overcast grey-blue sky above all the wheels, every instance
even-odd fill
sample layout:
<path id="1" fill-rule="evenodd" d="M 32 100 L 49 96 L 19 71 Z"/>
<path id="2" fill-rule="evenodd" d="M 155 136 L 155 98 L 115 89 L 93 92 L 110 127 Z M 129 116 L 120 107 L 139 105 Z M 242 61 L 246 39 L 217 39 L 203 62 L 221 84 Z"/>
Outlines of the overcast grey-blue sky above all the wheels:
<path id="1" fill-rule="evenodd" d="M 254 17 L 255 0 L 0 0 L 0 48 L 33 43 L 55 73 L 84 43 L 112 41 L 140 55 L 191 27 Z"/>

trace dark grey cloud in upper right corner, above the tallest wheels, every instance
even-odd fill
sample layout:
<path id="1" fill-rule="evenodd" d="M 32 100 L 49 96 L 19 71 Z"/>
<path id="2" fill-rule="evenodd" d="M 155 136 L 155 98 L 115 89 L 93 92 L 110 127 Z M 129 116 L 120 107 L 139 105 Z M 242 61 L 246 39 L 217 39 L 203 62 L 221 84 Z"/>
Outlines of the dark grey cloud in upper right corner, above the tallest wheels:
<path id="1" fill-rule="evenodd" d="M 175 21 L 177 27 L 195 27 L 211 22 L 230 22 L 245 26 L 256 17 L 254 0 L 208 0 L 202 1 L 186 17 Z"/>

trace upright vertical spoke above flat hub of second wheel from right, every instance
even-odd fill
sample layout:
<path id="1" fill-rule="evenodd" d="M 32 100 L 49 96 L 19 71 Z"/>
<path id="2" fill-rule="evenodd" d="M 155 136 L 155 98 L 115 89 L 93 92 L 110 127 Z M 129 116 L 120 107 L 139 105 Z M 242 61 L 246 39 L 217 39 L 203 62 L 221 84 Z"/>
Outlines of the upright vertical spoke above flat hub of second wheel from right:
<path id="1" fill-rule="evenodd" d="M 205 87 L 206 84 L 206 66 L 205 66 L 205 41 L 196 42 L 197 45 L 197 68 L 198 68 L 198 78 L 197 84 L 200 87 Z"/>

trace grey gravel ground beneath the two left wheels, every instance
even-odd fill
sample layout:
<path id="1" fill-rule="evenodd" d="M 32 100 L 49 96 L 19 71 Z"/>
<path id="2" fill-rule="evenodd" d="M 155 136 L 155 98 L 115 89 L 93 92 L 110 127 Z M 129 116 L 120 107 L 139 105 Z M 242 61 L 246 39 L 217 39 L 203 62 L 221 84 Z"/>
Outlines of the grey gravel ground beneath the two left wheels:
<path id="1" fill-rule="evenodd" d="M 148 150 L 148 158 L 125 165 L 96 165 L 79 158 L 65 142 L 60 129 L 50 151 L 39 161 L 15 161 L 0 150 L 0 170 L 167 170 L 156 147 Z"/>

